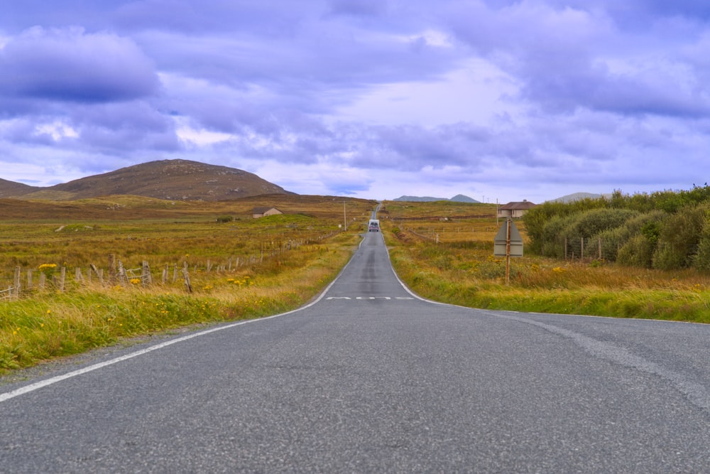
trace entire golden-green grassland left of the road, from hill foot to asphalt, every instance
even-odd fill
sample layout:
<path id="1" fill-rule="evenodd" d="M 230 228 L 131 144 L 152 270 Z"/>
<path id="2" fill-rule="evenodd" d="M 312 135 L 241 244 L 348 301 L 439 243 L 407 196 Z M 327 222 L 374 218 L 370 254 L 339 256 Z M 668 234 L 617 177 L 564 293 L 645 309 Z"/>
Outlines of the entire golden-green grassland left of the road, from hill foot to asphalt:
<path id="1" fill-rule="evenodd" d="M 0 373 L 122 338 L 302 306 L 348 261 L 375 203 L 347 200 L 347 211 L 357 220 L 343 232 L 342 199 L 280 199 L 268 203 L 287 213 L 261 219 L 251 217 L 258 200 L 173 208 L 129 197 L 112 199 L 115 205 L 104 205 L 103 213 L 91 219 L 82 220 L 82 206 L 92 207 L 95 200 L 73 202 L 77 212 L 71 220 L 53 217 L 56 208 L 50 203 L 45 215 L 32 220 L 0 221 L 0 290 L 13 284 L 16 266 L 25 286 L 19 298 L 0 300 Z M 22 205 L 14 203 L 13 210 L 21 213 Z M 226 208 L 234 220 L 217 222 L 228 215 Z M 111 219 L 116 209 L 121 218 Z M 144 286 L 130 276 L 111 280 L 109 254 L 126 269 L 149 262 L 153 283 Z M 103 283 L 96 275 L 88 281 L 89 264 L 103 267 Z M 64 291 L 55 284 L 62 267 L 67 269 Z M 75 267 L 83 268 L 84 279 L 75 279 Z M 191 292 L 181 273 L 173 279 L 175 268 L 188 269 Z M 32 289 L 26 287 L 28 270 Z M 41 289 L 40 276 L 46 281 Z"/>

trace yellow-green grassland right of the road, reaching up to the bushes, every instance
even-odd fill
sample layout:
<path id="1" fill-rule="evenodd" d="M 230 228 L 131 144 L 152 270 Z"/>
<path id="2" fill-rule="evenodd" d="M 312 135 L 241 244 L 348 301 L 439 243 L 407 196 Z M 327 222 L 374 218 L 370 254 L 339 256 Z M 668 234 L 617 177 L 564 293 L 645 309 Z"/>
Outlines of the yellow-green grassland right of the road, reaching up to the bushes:
<path id="1" fill-rule="evenodd" d="M 493 256 L 502 225 L 494 206 L 427 203 L 424 220 L 417 206 L 386 203 L 383 227 L 395 270 L 426 298 L 472 308 L 710 323 L 710 278 L 697 271 L 525 256 L 511 259 L 506 285 L 505 259 Z M 523 224 L 516 225 L 525 239 Z"/>

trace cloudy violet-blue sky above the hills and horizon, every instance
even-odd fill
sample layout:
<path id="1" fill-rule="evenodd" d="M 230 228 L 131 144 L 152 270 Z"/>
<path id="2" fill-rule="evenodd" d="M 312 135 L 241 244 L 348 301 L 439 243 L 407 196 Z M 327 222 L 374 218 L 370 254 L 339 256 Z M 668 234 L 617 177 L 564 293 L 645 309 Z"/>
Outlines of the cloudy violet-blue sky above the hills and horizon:
<path id="1" fill-rule="evenodd" d="M 0 178 L 188 159 L 299 194 L 541 203 L 710 175 L 706 0 L 23 0 Z"/>

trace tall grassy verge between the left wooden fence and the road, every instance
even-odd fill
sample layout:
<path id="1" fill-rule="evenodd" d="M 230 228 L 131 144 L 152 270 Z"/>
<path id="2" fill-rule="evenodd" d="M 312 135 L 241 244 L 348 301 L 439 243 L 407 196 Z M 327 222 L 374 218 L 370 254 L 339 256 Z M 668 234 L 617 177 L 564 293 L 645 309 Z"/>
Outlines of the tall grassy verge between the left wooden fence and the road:
<path id="1" fill-rule="evenodd" d="M 191 294 L 174 285 L 87 286 L 5 302 L 0 374 L 121 338 L 297 308 L 334 279 L 358 240 L 355 234 L 341 234 L 239 271 L 196 274 Z"/>

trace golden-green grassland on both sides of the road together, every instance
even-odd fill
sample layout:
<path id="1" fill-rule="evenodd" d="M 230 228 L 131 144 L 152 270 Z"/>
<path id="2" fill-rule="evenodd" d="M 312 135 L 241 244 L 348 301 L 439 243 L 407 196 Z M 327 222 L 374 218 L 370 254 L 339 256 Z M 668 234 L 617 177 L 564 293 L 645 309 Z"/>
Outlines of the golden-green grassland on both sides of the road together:
<path id="1" fill-rule="evenodd" d="M 0 373 L 136 335 L 301 306 L 348 261 L 376 204 L 296 195 L 0 200 L 0 290 L 18 279 L 22 288 L 0 299 Z M 254 219 L 258 206 L 284 214 Z M 503 224 L 495 205 L 388 201 L 379 217 L 396 271 L 426 298 L 710 322 L 710 279 L 691 270 L 525 255 L 512 259 L 506 285 L 504 259 L 493 257 Z"/>

